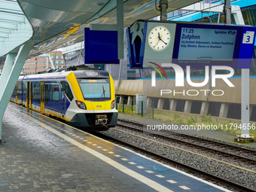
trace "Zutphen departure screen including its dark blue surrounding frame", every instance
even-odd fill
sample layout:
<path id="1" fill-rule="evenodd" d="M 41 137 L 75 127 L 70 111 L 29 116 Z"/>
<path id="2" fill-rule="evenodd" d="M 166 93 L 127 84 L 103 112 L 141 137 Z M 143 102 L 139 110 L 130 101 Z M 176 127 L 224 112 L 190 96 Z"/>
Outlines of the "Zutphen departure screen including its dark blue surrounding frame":
<path id="1" fill-rule="evenodd" d="M 173 63 L 233 66 L 241 29 L 234 26 L 177 25 Z"/>

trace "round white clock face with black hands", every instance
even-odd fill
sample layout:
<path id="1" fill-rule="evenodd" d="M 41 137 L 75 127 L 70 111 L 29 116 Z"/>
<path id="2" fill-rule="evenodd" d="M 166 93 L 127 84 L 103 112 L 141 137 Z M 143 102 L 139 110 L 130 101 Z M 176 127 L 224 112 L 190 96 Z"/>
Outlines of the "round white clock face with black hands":
<path id="1" fill-rule="evenodd" d="M 170 39 L 171 34 L 165 26 L 155 26 L 148 35 L 148 44 L 153 50 L 164 50 Z"/>

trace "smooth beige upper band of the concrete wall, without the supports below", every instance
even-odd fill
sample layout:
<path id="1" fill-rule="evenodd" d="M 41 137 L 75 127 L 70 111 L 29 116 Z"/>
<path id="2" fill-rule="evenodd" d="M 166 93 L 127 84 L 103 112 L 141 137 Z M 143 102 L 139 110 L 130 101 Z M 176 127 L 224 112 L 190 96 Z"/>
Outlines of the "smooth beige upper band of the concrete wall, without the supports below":
<path id="1" fill-rule="evenodd" d="M 223 90 L 223 96 L 209 95 L 209 102 L 227 102 L 227 103 L 241 103 L 241 78 L 229 79 L 235 87 L 229 87 L 222 79 L 216 80 L 216 87 L 212 87 L 211 92 L 214 90 Z M 193 79 L 194 83 L 203 82 L 203 79 Z M 114 81 L 115 90 L 117 90 L 117 81 Z M 147 94 L 150 97 L 166 98 L 166 99 L 184 99 L 193 101 L 206 101 L 204 91 L 208 90 L 209 83 L 204 87 L 191 87 L 184 81 L 184 87 L 175 87 L 175 80 L 157 80 L 156 87 L 151 87 L 151 80 L 125 80 L 120 82 L 120 87 L 117 95 L 136 96 L 136 94 Z M 163 94 L 160 96 L 160 90 L 172 90 L 170 94 Z M 175 93 L 173 94 L 173 90 Z M 198 90 L 197 96 L 188 96 L 187 90 Z M 183 93 L 184 92 L 184 96 Z M 195 91 L 189 91 L 190 95 L 196 94 Z M 214 94 L 221 94 L 215 91 Z M 256 78 L 250 79 L 250 105 L 256 105 Z"/>

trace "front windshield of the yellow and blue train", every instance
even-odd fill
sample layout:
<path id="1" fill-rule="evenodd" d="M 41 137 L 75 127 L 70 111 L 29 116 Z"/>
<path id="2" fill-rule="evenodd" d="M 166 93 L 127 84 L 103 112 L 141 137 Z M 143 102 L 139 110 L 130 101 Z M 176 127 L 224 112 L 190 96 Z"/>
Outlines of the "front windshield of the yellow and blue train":
<path id="1" fill-rule="evenodd" d="M 109 100 L 109 79 L 78 79 L 84 100 Z"/>

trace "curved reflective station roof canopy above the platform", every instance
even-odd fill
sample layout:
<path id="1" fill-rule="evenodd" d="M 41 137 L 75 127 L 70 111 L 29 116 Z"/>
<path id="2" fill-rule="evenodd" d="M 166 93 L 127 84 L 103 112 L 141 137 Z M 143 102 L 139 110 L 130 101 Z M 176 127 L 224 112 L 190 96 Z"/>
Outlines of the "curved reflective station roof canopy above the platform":
<path id="1" fill-rule="evenodd" d="M 92 23 L 116 24 L 116 1 L 0 0 L 0 42 L 6 41 L 10 37 L 10 29 L 15 30 L 16 25 L 26 17 L 32 25 L 32 41 L 35 43 L 29 57 L 75 44 L 84 40 L 84 27 Z M 3 7 L 2 2 L 6 6 Z M 196 2 L 200 0 L 169 0 L 167 12 Z M 160 11 L 155 9 L 154 0 L 123 0 L 123 3 L 124 26 L 130 26 L 136 20 L 148 20 L 160 15 Z M 8 17 L 6 14 L 11 15 Z"/>

